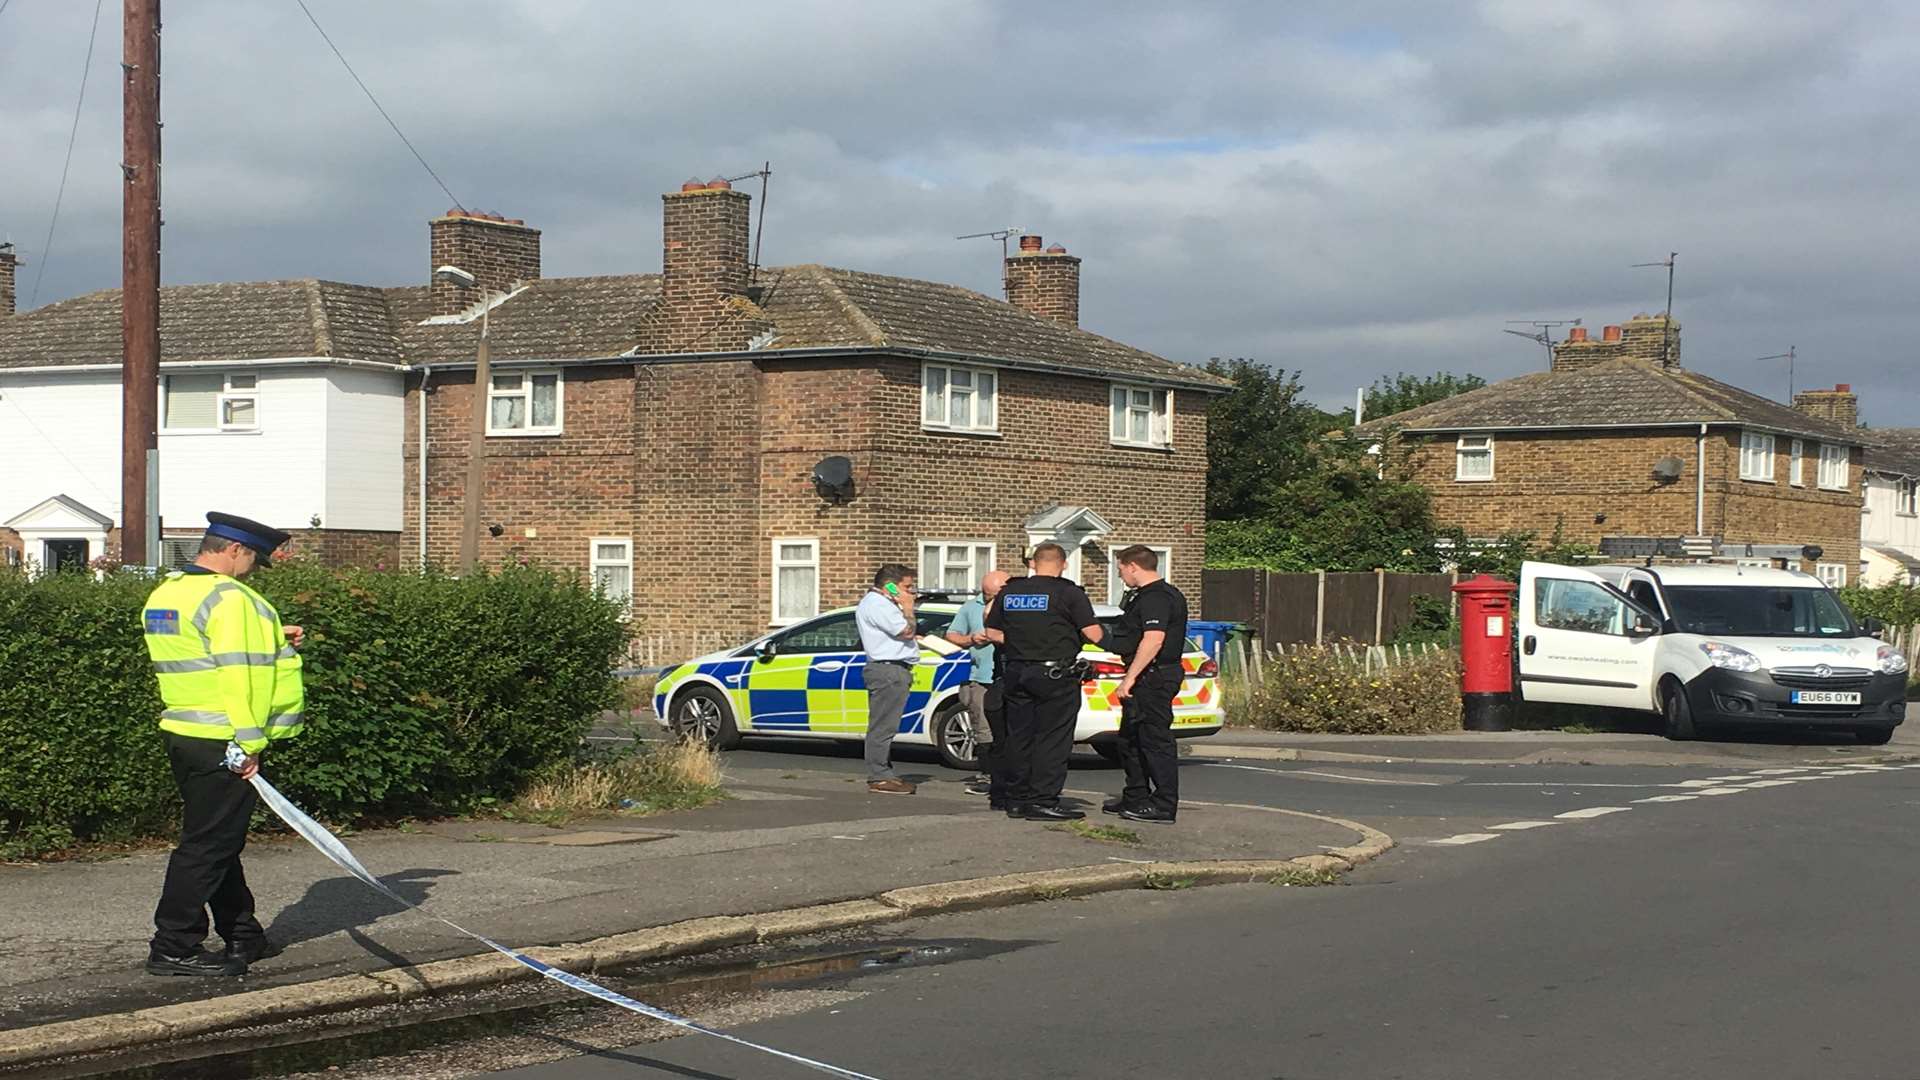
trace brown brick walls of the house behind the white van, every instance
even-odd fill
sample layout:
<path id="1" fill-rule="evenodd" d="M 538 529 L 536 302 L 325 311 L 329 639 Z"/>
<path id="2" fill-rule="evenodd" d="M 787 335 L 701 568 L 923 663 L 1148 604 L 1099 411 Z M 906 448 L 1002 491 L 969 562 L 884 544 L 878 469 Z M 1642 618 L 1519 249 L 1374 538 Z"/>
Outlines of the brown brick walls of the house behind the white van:
<path id="1" fill-rule="evenodd" d="M 1494 436 L 1494 480 L 1455 480 L 1455 440 L 1436 436 L 1404 446 L 1411 479 L 1432 492 L 1434 517 L 1469 536 L 1555 528 L 1580 544 L 1603 536 L 1695 534 L 1695 434 L 1674 430 L 1628 432 L 1513 432 Z M 1860 548 L 1857 486 L 1830 492 L 1816 486 L 1818 450 L 1807 442 L 1805 486 L 1788 482 L 1789 440 L 1776 440 L 1774 482 L 1740 480 L 1740 432 L 1713 429 L 1707 436 L 1705 534 L 1724 542 L 1820 544 L 1822 561 L 1849 567 Z M 1661 457 L 1682 461 L 1680 479 L 1653 480 Z M 1859 479 L 1859 450 L 1853 459 Z M 1607 515 L 1596 523 L 1594 515 Z M 1851 559 L 1851 561 L 1849 561 Z M 1851 575 L 1851 571 L 1849 571 Z"/>

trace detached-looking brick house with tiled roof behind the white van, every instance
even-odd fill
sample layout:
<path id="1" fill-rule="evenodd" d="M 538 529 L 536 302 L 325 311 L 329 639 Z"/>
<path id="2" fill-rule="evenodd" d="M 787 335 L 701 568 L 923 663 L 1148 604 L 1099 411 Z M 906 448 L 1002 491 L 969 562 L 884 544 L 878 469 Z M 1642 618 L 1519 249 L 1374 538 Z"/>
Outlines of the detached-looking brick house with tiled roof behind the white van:
<path id="1" fill-rule="evenodd" d="M 1680 367 L 1680 325 L 1574 329 L 1548 371 L 1379 417 L 1388 467 L 1469 538 L 1532 530 L 1603 555 L 1801 563 L 1851 580 L 1866 438 L 1834 392 L 1784 405 Z M 1851 402 L 1851 394 L 1845 394 Z"/>

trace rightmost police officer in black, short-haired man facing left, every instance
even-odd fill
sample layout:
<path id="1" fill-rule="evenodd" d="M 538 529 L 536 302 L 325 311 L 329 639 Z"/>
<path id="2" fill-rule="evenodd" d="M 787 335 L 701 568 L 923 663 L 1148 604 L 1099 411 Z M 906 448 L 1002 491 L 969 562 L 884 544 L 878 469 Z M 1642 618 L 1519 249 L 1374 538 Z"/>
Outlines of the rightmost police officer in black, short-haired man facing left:
<path id="1" fill-rule="evenodd" d="M 1127 786 L 1100 809 L 1127 821 L 1171 824 L 1179 813 L 1179 751 L 1173 746 L 1173 698 L 1187 669 L 1187 596 L 1160 577 L 1160 555 L 1135 544 L 1114 553 L 1127 596 L 1112 646 L 1127 661 L 1119 682 L 1119 767 Z"/>

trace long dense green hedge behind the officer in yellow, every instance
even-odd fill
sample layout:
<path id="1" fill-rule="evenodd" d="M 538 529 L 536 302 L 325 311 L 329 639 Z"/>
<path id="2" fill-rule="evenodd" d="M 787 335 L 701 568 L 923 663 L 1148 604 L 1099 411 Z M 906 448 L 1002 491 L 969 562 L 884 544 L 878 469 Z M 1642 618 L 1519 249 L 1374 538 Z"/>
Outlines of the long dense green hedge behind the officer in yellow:
<path id="1" fill-rule="evenodd" d="M 286 563 L 250 578 L 307 628 L 307 728 L 265 773 L 332 819 L 505 799 L 618 705 L 618 607 L 540 567 L 453 578 Z M 140 638 L 154 582 L 0 573 L 0 846 L 165 832 L 177 799 Z"/>

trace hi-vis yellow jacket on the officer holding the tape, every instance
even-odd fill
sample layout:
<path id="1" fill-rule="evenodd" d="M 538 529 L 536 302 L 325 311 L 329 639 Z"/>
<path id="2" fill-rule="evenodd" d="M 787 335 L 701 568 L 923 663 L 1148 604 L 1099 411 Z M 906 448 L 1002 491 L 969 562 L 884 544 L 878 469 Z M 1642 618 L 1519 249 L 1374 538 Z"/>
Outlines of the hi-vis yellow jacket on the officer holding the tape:
<path id="1" fill-rule="evenodd" d="M 167 709 L 161 730 L 259 753 L 300 734 L 307 696 L 280 613 L 215 573 L 171 573 L 146 598 L 146 651 Z"/>

